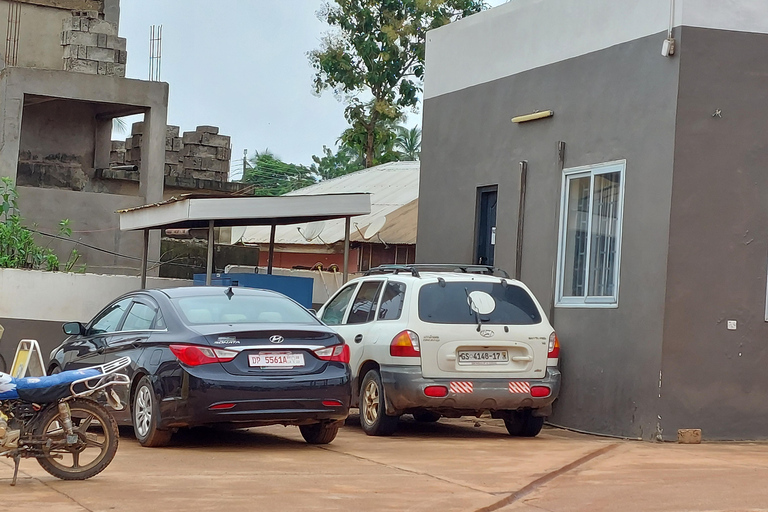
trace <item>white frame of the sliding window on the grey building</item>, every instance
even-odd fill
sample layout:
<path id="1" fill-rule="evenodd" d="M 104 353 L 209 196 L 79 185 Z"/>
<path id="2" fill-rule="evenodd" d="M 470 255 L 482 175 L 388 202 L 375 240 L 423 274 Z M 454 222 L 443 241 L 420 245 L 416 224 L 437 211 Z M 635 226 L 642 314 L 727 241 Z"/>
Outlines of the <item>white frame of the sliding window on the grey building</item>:
<path id="1" fill-rule="evenodd" d="M 555 279 L 555 306 L 556 307 L 568 307 L 568 308 L 618 308 L 619 307 L 619 277 L 621 275 L 621 238 L 622 229 L 624 225 L 624 191 L 626 190 L 626 160 L 616 160 L 613 162 L 605 162 L 601 164 L 585 165 L 582 167 L 572 167 L 569 169 L 563 169 L 563 181 L 561 184 L 560 192 L 560 229 L 558 231 L 557 242 L 557 273 Z M 609 174 L 619 172 L 621 177 L 621 189 L 619 191 L 619 206 L 617 215 L 617 228 L 616 228 L 616 264 L 614 267 L 614 293 L 611 296 L 588 296 L 584 297 L 566 297 L 563 296 L 563 284 L 564 284 L 564 272 L 565 272 L 565 242 L 566 242 L 566 230 L 567 222 L 566 217 L 568 215 L 568 193 L 570 191 L 569 181 L 574 178 L 590 178 L 590 197 L 594 190 L 594 178 L 595 175 Z M 588 240 L 591 240 L 592 231 L 592 210 L 593 201 L 590 200 L 589 208 L 589 230 L 590 236 Z M 587 269 L 586 276 L 589 280 L 590 268 L 590 254 L 591 242 L 587 243 Z M 585 292 L 586 293 L 586 292 Z"/>

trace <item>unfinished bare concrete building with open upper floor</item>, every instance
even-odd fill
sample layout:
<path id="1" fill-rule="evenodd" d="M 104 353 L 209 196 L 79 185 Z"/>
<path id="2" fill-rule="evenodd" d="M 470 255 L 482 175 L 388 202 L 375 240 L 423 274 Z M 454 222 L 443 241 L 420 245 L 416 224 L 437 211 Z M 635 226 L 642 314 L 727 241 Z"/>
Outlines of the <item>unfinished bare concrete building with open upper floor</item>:
<path id="1" fill-rule="evenodd" d="M 114 212 L 163 199 L 168 84 L 124 78 L 119 0 L 2 0 L 3 15 L 0 176 L 17 184 L 27 225 L 56 233 L 69 219 L 90 270 L 130 272 L 138 263 L 88 246 L 141 253 L 141 235 L 120 233 Z M 132 114 L 144 114 L 145 136 L 140 183 L 126 191 L 100 171 L 113 119 Z M 72 248 L 43 242 L 60 256 Z"/>

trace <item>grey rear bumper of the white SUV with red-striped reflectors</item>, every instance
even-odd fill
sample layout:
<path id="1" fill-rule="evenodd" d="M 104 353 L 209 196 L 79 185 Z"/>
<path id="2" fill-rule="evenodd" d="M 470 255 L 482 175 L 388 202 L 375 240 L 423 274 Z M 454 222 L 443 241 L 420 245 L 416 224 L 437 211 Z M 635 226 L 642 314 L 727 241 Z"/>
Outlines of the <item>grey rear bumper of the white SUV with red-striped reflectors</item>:
<path id="1" fill-rule="evenodd" d="M 476 414 L 479 411 L 535 409 L 535 415 L 551 413 L 552 402 L 560 392 L 560 371 L 547 368 L 541 379 L 425 379 L 420 366 L 382 366 L 381 380 L 387 414 L 397 415 L 414 409 Z M 452 386 L 453 383 L 453 386 Z M 448 394 L 431 397 L 424 394 L 428 386 L 444 386 Z M 534 386 L 550 389 L 546 397 L 533 397 Z"/>

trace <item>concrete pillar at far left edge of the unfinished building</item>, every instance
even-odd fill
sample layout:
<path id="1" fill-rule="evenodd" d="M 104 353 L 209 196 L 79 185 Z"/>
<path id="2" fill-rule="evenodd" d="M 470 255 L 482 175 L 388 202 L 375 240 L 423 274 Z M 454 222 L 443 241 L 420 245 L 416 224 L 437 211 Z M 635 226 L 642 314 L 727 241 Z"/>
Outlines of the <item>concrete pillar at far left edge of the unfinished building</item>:
<path id="1" fill-rule="evenodd" d="M 24 112 L 24 94 L 8 85 L 6 70 L 0 81 L 0 177 L 11 178 L 16 183 L 21 145 L 21 118 Z"/>

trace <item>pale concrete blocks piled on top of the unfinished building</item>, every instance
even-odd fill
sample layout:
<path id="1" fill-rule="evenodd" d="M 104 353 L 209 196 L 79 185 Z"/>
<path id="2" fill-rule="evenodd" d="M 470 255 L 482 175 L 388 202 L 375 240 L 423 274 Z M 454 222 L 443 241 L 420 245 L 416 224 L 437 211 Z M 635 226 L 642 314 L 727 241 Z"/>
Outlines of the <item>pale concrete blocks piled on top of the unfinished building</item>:
<path id="1" fill-rule="evenodd" d="M 98 11 L 73 11 L 61 34 L 64 70 L 90 75 L 125 77 L 126 41 L 117 25 Z"/>

